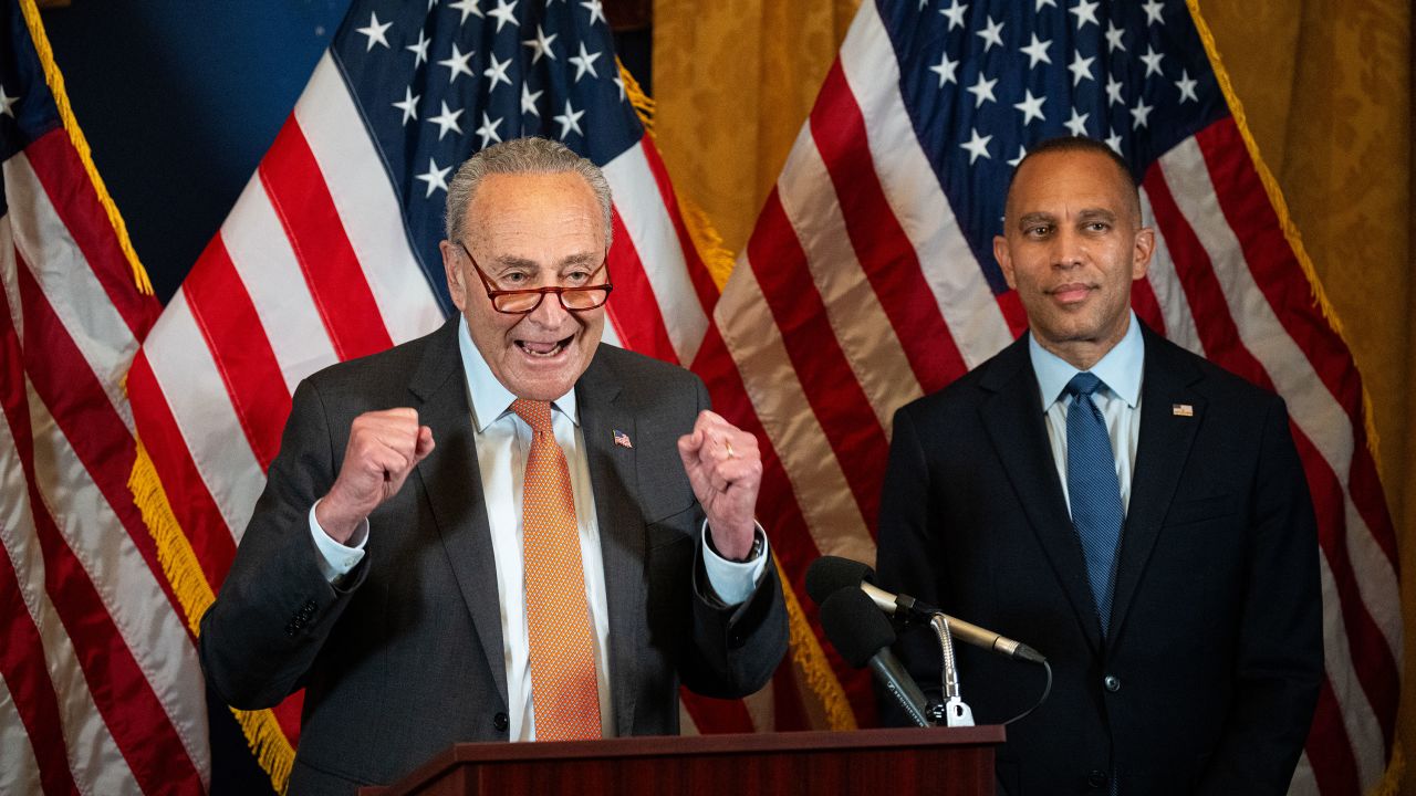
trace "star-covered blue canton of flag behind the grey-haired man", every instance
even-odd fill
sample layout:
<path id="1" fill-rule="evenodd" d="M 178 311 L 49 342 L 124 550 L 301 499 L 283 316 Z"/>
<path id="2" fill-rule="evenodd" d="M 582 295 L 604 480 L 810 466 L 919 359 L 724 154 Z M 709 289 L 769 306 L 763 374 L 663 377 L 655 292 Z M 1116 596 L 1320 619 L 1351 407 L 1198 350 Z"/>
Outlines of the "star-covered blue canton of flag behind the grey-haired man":
<path id="1" fill-rule="evenodd" d="M 643 136 L 600 0 L 355 0 L 330 52 L 443 313 L 438 241 L 457 166 L 521 136 L 605 166 Z"/>

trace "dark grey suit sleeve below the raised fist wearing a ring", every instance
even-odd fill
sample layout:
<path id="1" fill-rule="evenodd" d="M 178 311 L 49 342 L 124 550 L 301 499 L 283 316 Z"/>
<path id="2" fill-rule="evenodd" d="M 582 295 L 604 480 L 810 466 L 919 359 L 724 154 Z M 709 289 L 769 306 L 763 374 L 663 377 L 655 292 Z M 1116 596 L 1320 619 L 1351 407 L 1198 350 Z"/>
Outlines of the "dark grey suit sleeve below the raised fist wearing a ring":
<path id="1" fill-rule="evenodd" d="M 709 405 L 702 381 L 694 378 L 697 409 Z M 704 514 L 700 508 L 698 527 Z M 767 684 L 787 650 L 787 612 L 782 601 L 782 582 L 776 562 L 769 559 L 762 581 L 741 605 L 728 606 L 708 584 L 701 541 L 694 545 L 691 578 L 694 643 L 680 661 L 684 686 L 698 694 L 738 698 Z"/>

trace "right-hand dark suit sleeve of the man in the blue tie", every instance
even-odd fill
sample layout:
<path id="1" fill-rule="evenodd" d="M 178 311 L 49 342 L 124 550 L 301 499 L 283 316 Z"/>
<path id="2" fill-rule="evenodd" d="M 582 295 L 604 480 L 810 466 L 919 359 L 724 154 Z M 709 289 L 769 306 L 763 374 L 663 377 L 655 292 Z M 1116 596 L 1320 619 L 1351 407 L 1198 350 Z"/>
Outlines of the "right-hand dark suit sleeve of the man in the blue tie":
<path id="1" fill-rule="evenodd" d="M 1198 789 L 1216 796 L 1287 792 L 1323 680 L 1317 521 L 1280 399 L 1263 429 L 1233 707 Z"/>

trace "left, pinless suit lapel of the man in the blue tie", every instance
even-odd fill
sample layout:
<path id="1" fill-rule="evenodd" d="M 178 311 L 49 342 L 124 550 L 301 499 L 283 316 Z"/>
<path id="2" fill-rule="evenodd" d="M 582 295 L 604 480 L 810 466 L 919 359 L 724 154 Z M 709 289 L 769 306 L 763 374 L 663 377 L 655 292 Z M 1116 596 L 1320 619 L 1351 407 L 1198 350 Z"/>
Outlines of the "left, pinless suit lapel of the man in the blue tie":
<path id="1" fill-rule="evenodd" d="M 1046 419 L 1038 402 L 1038 380 L 1028 358 L 1028 337 L 1021 337 L 988 365 L 978 385 L 993 392 L 980 406 L 980 415 L 1008 480 L 1012 483 L 1046 552 L 1062 591 L 1066 592 L 1083 635 L 1093 650 L 1100 649 L 1102 626 L 1086 579 L 1082 544 L 1072 530 L 1072 518 L 1062 496 Z"/>

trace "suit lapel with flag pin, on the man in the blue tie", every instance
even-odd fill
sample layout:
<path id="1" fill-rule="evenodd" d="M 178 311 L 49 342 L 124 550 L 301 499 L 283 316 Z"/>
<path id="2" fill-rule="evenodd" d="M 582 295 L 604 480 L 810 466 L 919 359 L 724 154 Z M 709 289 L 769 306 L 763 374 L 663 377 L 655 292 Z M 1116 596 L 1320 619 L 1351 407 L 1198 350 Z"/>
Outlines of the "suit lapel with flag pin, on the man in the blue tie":
<path id="1" fill-rule="evenodd" d="M 1189 446 L 1204 419 L 1205 399 L 1192 385 L 1201 373 L 1177 357 L 1175 347 L 1141 327 L 1146 339 L 1146 375 L 1141 380 L 1141 429 L 1131 476 L 1131 500 L 1121 533 L 1120 562 L 1112 608 L 1112 636 L 1126 625 L 1126 612 L 1150 554 L 1160 537 L 1161 523 L 1175 497 L 1180 474 L 1189 459 Z M 1192 416 L 1178 415 L 1177 405 L 1188 405 Z"/>

